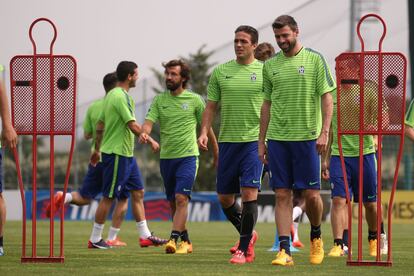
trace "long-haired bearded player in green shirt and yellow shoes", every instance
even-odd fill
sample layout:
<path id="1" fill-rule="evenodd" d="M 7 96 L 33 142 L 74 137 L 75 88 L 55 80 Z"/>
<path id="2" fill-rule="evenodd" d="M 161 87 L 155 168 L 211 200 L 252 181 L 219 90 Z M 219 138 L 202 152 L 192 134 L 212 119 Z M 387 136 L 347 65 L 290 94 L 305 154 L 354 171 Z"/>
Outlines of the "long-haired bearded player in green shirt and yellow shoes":
<path id="1" fill-rule="evenodd" d="M 154 98 L 140 138 L 145 142 L 153 124 L 159 122 L 160 171 L 173 218 L 171 236 L 165 252 L 187 254 L 193 252 L 186 221 L 188 202 L 198 169 L 196 130 L 197 124 L 201 124 L 204 101 L 200 95 L 186 89 L 190 80 L 190 68 L 184 61 L 171 60 L 163 66 L 168 90 Z M 209 138 L 217 160 L 218 145 L 212 129 Z M 181 242 L 178 244 L 179 238 Z"/>

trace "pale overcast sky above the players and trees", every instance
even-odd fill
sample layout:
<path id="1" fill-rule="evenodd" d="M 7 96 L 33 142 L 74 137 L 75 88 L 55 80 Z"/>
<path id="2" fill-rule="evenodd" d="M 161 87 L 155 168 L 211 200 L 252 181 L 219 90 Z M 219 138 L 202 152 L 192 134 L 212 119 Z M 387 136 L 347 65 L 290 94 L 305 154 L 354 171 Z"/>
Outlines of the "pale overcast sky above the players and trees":
<path id="1" fill-rule="evenodd" d="M 406 0 L 379 3 L 376 12 L 388 25 L 384 49 L 408 54 Z M 82 105 L 103 95 L 103 75 L 121 60 L 137 62 L 141 80 L 150 78 L 149 68 L 160 68 L 163 61 L 186 56 L 203 44 L 213 50 L 231 42 L 241 24 L 267 26 L 260 29 L 260 40 L 275 45 L 270 22 L 291 11 L 304 45 L 322 52 L 331 66 L 335 56 L 349 49 L 347 0 L 3 0 L 0 64 L 8 66 L 13 56 L 31 54 L 28 28 L 34 19 L 48 17 L 58 28 L 54 52 L 77 59 Z M 50 29 L 40 25 L 35 35 L 39 52 L 48 51 Z M 214 58 L 225 62 L 233 55 L 230 43 Z"/>

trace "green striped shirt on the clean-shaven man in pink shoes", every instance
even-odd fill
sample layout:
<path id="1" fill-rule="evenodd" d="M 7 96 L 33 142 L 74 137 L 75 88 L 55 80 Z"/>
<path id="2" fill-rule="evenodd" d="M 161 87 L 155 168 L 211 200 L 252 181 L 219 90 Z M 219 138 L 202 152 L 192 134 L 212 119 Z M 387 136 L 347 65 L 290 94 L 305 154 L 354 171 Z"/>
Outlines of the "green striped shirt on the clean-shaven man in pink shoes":
<path id="1" fill-rule="evenodd" d="M 235 60 L 218 65 L 208 83 L 208 100 L 221 103 L 219 142 L 252 142 L 259 137 L 263 63 Z"/>

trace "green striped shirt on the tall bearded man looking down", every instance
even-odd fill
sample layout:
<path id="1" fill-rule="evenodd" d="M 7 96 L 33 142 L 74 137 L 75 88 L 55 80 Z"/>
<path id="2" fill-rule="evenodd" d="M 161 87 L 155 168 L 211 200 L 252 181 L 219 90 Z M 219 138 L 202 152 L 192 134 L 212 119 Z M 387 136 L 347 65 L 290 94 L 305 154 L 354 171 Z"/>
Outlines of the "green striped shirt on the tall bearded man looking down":
<path id="1" fill-rule="evenodd" d="M 302 48 L 293 57 L 280 51 L 267 60 L 263 92 L 264 99 L 272 102 L 267 138 L 316 139 L 322 128 L 321 96 L 335 87 L 325 59 L 312 49 Z"/>

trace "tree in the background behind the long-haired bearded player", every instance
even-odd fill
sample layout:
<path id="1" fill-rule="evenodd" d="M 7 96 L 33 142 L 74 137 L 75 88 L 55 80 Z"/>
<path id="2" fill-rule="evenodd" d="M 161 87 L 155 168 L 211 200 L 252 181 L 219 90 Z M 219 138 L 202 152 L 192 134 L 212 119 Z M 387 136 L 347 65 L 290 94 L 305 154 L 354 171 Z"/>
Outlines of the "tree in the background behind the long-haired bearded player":
<path id="1" fill-rule="evenodd" d="M 210 78 L 210 71 L 215 65 L 209 63 L 210 57 L 214 51 L 206 51 L 206 45 L 202 45 L 195 53 L 190 53 L 188 57 L 180 57 L 191 68 L 191 80 L 189 82 L 190 89 L 200 94 L 204 99 L 207 99 L 207 85 Z M 165 91 L 164 73 L 151 68 L 155 78 L 158 81 L 159 87 L 152 87 L 155 93 L 161 93 Z M 219 115 L 216 116 L 213 124 L 213 129 L 216 135 L 218 134 Z M 154 129 L 155 131 L 155 129 Z M 159 135 L 159 133 L 155 134 Z M 211 148 L 211 147 L 210 147 Z M 194 185 L 195 191 L 211 191 L 215 190 L 216 186 L 216 170 L 213 164 L 212 151 L 201 152 L 199 156 L 199 169 L 197 174 L 196 183 Z"/>

